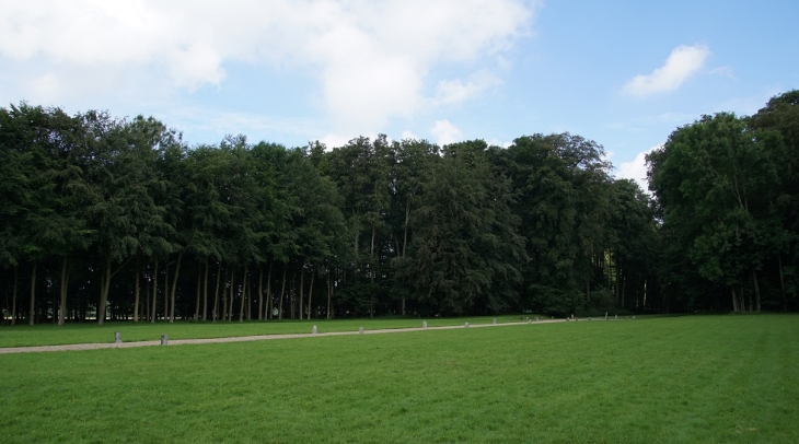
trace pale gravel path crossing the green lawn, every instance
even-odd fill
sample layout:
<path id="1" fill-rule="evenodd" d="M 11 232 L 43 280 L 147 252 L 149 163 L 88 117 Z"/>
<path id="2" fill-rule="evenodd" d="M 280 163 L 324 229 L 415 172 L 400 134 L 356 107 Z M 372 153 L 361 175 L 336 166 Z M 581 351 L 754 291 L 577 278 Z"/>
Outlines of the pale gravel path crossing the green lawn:
<path id="1" fill-rule="evenodd" d="M 565 319 L 543 319 L 543 320 L 531 320 L 530 323 L 505 323 L 505 324 L 470 324 L 468 328 L 480 328 L 480 327 L 507 327 L 514 325 L 528 325 L 528 324 L 552 324 L 563 323 Z M 414 327 L 414 328 L 387 328 L 381 330 L 363 330 L 362 335 L 380 335 L 380 334 L 395 334 L 395 332 L 407 332 L 407 331 L 421 331 L 421 330 L 452 330 L 455 328 L 464 328 L 464 325 L 451 325 L 443 327 Z M 360 335 L 360 331 L 328 331 L 317 334 L 291 334 L 291 335 L 259 335 L 259 336 L 236 336 L 231 338 L 207 338 L 207 339 L 175 339 L 169 340 L 169 346 L 182 346 L 186 343 L 215 343 L 215 342 L 247 342 L 247 341 L 264 341 L 275 339 L 294 339 L 294 338 L 317 338 L 325 336 L 346 336 L 346 335 Z M 39 346 L 39 347 L 9 347 L 0 348 L 0 354 L 7 353 L 34 353 L 43 351 L 70 351 L 70 350 L 95 350 L 95 349 L 129 349 L 134 347 L 153 347 L 160 346 L 161 341 L 139 341 L 139 342 L 105 342 L 105 343 L 72 343 L 66 346 Z"/>

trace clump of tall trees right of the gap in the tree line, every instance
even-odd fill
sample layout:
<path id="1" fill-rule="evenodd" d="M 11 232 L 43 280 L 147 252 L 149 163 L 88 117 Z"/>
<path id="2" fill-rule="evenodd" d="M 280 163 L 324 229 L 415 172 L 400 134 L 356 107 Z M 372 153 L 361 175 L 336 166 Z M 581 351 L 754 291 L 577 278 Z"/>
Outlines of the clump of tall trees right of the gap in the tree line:
<path id="1" fill-rule="evenodd" d="M 796 309 L 799 91 L 702 116 L 647 156 L 661 285 L 686 307 Z"/>

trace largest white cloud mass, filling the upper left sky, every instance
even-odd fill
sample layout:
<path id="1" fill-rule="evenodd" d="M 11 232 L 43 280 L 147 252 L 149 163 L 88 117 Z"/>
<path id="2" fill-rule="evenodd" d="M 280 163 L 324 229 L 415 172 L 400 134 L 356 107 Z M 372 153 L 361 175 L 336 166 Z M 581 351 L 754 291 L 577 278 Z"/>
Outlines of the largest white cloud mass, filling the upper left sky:
<path id="1" fill-rule="evenodd" d="M 21 73 L 4 91 L 24 98 L 46 95 L 53 103 L 86 94 L 164 100 L 219 86 L 228 63 L 266 65 L 311 72 L 321 90 L 312 95 L 320 97 L 317 105 L 336 132 L 374 132 L 392 117 L 460 103 L 490 86 L 496 80 L 480 74 L 442 81 L 431 96 L 425 91 L 439 63 L 480 66 L 501 57 L 530 33 L 540 4 L 8 1 L 0 2 L 0 70 L 12 66 Z M 4 95 L 0 100 L 11 98 Z"/>

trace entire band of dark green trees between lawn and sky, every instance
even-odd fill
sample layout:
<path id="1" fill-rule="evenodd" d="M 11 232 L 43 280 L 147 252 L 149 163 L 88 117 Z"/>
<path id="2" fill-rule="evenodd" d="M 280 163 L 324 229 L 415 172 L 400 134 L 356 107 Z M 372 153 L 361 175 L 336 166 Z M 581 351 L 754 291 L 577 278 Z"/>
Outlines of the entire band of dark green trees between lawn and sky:
<path id="1" fill-rule="evenodd" d="M 0 108 L 5 324 L 796 309 L 799 91 L 702 116 L 650 195 L 569 133 L 187 145 Z"/>

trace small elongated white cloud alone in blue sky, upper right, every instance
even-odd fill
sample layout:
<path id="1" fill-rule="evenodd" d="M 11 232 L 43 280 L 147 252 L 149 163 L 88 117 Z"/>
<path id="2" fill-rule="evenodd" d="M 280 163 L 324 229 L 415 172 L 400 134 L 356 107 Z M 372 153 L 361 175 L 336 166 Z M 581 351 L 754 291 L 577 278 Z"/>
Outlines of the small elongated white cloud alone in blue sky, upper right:
<path id="1" fill-rule="evenodd" d="M 624 85 L 624 92 L 644 97 L 674 91 L 705 65 L 710 49 L 704 45 L 678 46 L 671 51 L 665 65 L 647 75 L 636 75 Z"/>

